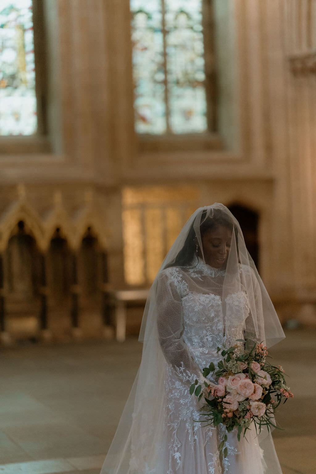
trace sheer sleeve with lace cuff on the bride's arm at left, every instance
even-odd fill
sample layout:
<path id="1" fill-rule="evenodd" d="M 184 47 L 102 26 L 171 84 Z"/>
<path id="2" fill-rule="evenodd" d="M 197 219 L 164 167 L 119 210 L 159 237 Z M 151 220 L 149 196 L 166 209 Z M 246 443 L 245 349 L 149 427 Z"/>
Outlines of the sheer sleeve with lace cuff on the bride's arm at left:
<path id="1" fill-rule="evenodd" d="M 181 295 L 168 271 L 158 280 L 156 301 L 159 342 L 167 362 L 184 382 L 192 383 L 196 378 L 205 380 L 182 339 Z"/>

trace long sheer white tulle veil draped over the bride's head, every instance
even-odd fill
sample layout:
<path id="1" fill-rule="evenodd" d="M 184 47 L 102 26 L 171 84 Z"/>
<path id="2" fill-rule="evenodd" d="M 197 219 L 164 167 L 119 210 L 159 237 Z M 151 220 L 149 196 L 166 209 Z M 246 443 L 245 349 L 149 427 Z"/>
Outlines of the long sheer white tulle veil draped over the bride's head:
<path id="1" fill-rule="evenodd" d="M 142 361 L 101 474 L 166 474 L 162 459 L 166 412 L 164 382 L 168 363 L 157 328 L 158 298 L 161 297 L 157 292 L 157 285 L 166 268 L 179 265 L 181 256 L 189 259 L 185 263 L 184 258 L 183 266 L 195 264 L 196 245 L 204 260 L 201 229 L 205 225 L 216 225 L 224 221 L 232 228 L 230 251 L 220 287 L 224 325 L 228 324 L 226 302 L 229 301 L 229 295 L 240 292 L 243 288 L 248 297 L 251 318 L 251 324 L 244 327 L 248 332 L 249 327 L 251 328 L 248 337 L 263 341 L 268 347 L 285 337 L 271 299 L 246 249 L 238 221 L 220 203 L 197 209 L 166 255 L 149 291 L 139 335 L 139 340 L 143 342 Z M 280 471 L 273 470 L 273 460 L 271 464 L 269 459 L 275 456 L 271 435 L 262 436 L 260 445 L 264 449 L 267 472 L 279 473 Z"/>

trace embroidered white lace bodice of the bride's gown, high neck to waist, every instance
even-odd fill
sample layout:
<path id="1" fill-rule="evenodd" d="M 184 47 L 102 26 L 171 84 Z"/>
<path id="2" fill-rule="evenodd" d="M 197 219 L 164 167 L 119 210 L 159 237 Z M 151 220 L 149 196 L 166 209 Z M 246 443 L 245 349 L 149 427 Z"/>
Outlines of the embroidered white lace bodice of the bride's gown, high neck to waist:
<path id="1" fill-rule="evenodd" d="M 212 268 L 201 259 L 192 267 L 171 267 L 164 271 L 164 282 L 178 301 L 174 310 L 180 313 L 181 339 L 199 371 L 210 362 L 217 362 L 220 357 L 217 346 L 228 346 L 235 344 L 236 339 L 243 339 L 245 319 L 249 314 L 247 295 L 243 290 L 228 294 L 224 316 L 224 278 L 225 270 Z M 172 301 L 169 303 L 172 308 Z M 175 316 L 169 313 L 171 319 Z M 160 332 L 163 333 L 163 328 Z M 168 342 L 170 344 L 170 338 Z"/>

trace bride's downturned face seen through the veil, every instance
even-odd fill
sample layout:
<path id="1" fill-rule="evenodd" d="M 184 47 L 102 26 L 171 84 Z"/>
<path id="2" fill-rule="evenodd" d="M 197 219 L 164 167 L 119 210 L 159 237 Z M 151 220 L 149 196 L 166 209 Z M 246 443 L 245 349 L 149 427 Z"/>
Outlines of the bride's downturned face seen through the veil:
<path id="1" fill-rule="evenodd" d="M 225 267 L 231 240 L 232 231 L 222 225 L 204 232 L 202 246 L 205 263 L 214 268 Z"/>

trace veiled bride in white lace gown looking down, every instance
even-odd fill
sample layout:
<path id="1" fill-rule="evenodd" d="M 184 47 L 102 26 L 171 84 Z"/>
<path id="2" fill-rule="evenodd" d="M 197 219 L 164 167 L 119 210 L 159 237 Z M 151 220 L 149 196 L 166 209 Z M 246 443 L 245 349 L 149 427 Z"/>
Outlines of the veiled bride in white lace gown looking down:
<path id="1" fill-rule="evenodd" d="M 225 427 L 196 421 L 203 398 L 189 388 L 217 382 L 202 374 L 220 360 L 217 346 L 269 347 L 283 337 L 237 220 L 223 204 L 197 209 L 149 292 L 141 365 L 101 474 L 281 474 L 268 432 L 237 441 L 233 430 L 222 459 Z"/>

